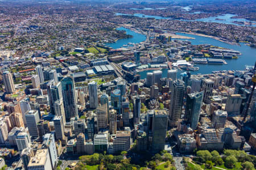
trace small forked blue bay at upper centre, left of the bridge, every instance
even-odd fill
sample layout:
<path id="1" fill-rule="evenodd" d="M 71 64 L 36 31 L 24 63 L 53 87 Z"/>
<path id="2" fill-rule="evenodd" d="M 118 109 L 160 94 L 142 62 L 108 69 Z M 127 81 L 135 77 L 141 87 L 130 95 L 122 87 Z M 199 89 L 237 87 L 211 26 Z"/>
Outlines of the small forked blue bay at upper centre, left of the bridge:
<path id="1" fill-rule="evenodd" d="M 117 29 L 126 31 L 127 35 L 132 35 L 133 37 L 129 38 L 129 39 L 120 39 L 120 40 L 117 40 L 117 42 L 106 43 L 105 44 L 105 45 L 108 45 L 108 46 L 112 47 L 113 49 L 118 49 L 118 48 L 124 47 L 123 45 L 132 46 L 132 45 L 128 44 L 129 42 L 137 44 L 139 42 L 142 42 L 142 41 L 146 40 L 146 35 L 142 35 L 141 33 L 131 31 L 130 29 L 127 29 L 127 28 L 124 28 L 124 27 L 119 27 Z"/>

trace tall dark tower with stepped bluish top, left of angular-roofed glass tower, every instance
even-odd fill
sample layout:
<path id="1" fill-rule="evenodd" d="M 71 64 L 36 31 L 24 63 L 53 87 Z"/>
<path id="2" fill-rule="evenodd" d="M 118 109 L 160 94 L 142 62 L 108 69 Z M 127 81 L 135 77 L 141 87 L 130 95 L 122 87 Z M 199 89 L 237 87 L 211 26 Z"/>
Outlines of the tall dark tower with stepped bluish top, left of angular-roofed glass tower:
<path id="1" fill-rule="evenodd" d="M 170 126 L 177 126 L 183 106 L 185 86 L 183 80 L 176 80 L 171 88 L 171 101 L 169 109 Z"/>

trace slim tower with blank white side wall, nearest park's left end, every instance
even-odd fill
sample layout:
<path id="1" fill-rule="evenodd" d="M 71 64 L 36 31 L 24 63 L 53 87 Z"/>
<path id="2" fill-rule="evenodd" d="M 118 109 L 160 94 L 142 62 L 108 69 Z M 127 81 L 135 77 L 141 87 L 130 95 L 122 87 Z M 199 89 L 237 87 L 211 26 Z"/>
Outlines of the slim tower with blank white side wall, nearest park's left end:
<path id="1" fill-rule="evenodd" d="M 42 148 L 48 149 L 49 157 L 51 159 L 52 169 L 55 169 L 57 167 L 58 155 L 57 155 L 57 150 L 55 145 L 54 132 L 47 133 L 46 135 L 44 135 Z"/>

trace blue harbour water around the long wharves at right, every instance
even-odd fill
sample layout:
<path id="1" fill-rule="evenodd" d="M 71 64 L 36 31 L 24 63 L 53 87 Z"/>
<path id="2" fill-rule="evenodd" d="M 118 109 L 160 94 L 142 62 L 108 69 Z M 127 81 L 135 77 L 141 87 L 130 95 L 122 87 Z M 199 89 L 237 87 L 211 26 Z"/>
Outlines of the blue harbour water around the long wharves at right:
<path id="1" fill-rule="evenodd" d="M 212 71 L 218 71 L 218 70 L 243 70 L 245 69 L 245 65 L 254 65 L 256 61 L 256 49 L 245 45 L 245 43 L 240 43 L 241 46 L 230 45 L 230 44 L 226 44 L 225 42 L 214 40 L 208 37 L 190 35 L 187 33 L 177 33 L 177 35 L 195 38 L 195 39 L 188 39 L 188 41 L 191 41 L 192 45 L 210 44 L 214 46 L 221 46 L 223 48 L 238 50 L 242 53 L 241 56 L 238 56 L 239 57 L 238 59 L 225 59 L 228 65 L 208 65 L 208 64 L 197 63 L 196 66 L 199 67 L 200 69 L 198 71 L 191 71 L 191 74 L 199 74 L 199 73 L 209 74 L 209 73 L 212 73 Z M 162 70 L 163 77 L 167 76 L 167 70 L 168 69 Z M 139 72 L 139 74 L 141 75 L 141 79 L 146 78 L 147 72 L 152 72 L 152 70 Z M 181 73 L 181 72 L 184 72 L 184 71 L 178 71 L 178 73 Z"/>

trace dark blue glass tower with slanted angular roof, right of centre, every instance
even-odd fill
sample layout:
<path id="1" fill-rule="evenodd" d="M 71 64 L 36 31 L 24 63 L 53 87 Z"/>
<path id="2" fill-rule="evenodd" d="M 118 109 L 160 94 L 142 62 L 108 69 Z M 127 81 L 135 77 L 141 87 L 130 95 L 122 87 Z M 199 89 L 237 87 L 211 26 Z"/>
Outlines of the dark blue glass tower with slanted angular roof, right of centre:
<path id="1" fill-rule="evenodd" d="M 195 130 L 199 122 L 200 109 L 203 102 L 204 92 L 188 94 L 186 106 L 186 118 L 191 129 Z"/>

